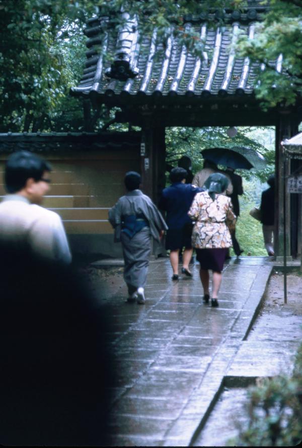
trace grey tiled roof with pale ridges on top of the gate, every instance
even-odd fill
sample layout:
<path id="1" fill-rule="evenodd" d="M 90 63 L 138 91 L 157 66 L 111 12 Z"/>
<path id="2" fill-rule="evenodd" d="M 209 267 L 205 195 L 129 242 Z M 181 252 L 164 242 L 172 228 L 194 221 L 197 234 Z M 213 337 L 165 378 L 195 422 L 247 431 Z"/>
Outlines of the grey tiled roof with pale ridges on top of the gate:
<path id="1" fill-rule="evenodd" d="M 256 2 L 257 3 L 257 2 Z M 254 2 L 255 4 L 255 2 Z M 154 97 L 227 97 L 253 93 L 259 63 L 240 57 L 230 44 L 239 34 L 255 37 L 255 23 L 263 20 L 263 8 L 253 7 L 244 13 L 225 14 L 223 27 L 209 27 L 207 18 L 187 17 L 185 28 L 193 27 L 205 40 L 203 59 L 193 56 L 179 39 L 170 37 L 166 48 L 156 43 L 156 30 L 152 37 L 139 40 L 137 23 L 126 13 L 126 25 L 119 34 L 106 31 L 108 18 L 95 18 L 88 22 L 87 61 L 78 87 L 71 89 L 75 95 L 97 95 L 99 100 L 126 99 L 129 95 L 138 103 Z M 210 19 L 215 19 L 213 13 Z M 208 16 L 208 17 L 209 17 Z M 105 31 L 104 31 L 105 30 Z M 105 60 L 97 48 L 112 56 Z M 282 56 L 271 61 L 277 71 L 282 70 Z"/>

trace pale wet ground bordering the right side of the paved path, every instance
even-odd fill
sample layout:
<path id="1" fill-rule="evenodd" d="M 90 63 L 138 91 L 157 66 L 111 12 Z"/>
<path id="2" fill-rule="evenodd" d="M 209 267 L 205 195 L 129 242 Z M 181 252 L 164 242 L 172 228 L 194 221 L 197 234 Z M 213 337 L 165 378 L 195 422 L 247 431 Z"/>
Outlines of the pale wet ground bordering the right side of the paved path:
<path id="1" fill-rule="evenodd" d="M 226 371 L 232 387 L 223 389 L 193 446 L 234 446 L 230 439 L 248 424 L 248 386 L 259 376 L 291 374 L 302 338 L 302 277 L 289 274 L 287 282 L 284 304 L 283 277 L 271 277 L 263 308 Z"/>

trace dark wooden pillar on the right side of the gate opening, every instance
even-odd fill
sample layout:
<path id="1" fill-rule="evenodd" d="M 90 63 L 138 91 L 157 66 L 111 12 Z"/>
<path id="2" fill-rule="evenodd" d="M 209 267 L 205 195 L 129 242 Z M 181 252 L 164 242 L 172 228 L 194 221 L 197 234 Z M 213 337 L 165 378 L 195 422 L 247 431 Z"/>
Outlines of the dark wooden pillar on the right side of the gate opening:
<path id="1" fill-rule="evenodd" d="M 279 115 L 279 122 L 276 125 L 276 158 L 275 158 L 275 254 L 283 257 L 284 254 L 284 216 L 286 228 L 286 255 L 291 255 L 290 234 L 292 234 L 293 224 L 290 219 L 290 195 L 285 191 L 285 214 L 284 214 L 284 180 L 290 174 L 290 163 L 284 164 L 282 152 L 282 140 L 289 139 L 297 133 L 297 124 L 293 122 L 289 113 Z M 286 172 L 285 172 L 286 171 Z"/>

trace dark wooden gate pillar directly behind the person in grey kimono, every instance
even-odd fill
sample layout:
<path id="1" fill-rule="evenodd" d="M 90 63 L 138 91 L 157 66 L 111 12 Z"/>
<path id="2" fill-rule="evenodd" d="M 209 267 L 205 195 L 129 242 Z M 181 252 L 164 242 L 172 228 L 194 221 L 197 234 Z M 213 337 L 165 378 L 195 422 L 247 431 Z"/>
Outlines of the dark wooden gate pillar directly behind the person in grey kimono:
<path id="1" fill-rule="evenodd" d="M 166 143 L 165 127 L 157 123 L 152 113 L 143 114 L 140 145 L 142 191 L 158 205 L 165 188 Z M 153 242 L 153 255 L 165 254 L 163 244 Z"/>

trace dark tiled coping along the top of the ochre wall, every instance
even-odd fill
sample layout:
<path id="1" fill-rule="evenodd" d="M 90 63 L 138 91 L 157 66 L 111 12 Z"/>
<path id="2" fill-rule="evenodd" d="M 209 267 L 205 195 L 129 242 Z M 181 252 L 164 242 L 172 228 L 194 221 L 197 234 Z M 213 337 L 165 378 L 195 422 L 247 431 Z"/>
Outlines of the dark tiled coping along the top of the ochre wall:
<path id="1" fill-rule="evenodd" d="M 138 149 L 140 140 L 139 132 L 6 133 L 0 134 L 0 153 Z"/>

